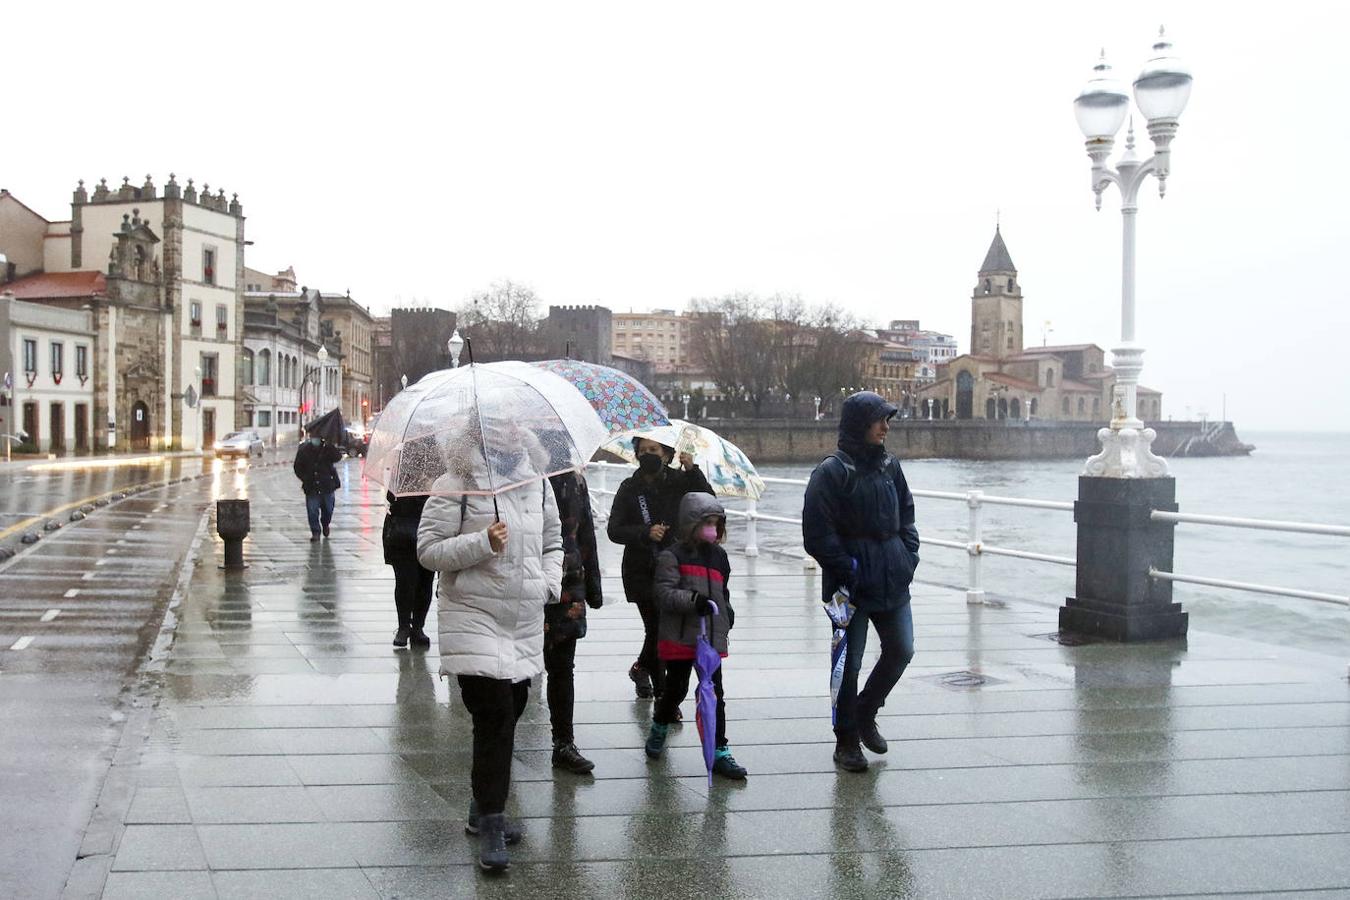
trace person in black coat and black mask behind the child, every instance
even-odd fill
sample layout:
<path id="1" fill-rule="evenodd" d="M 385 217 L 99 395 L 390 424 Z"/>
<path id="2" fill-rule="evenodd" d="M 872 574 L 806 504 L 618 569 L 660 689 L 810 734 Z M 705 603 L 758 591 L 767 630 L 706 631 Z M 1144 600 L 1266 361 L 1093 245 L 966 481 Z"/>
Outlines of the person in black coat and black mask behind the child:
<path id="1" fill-rule="evenodd" d="M 675 542 L 679 502 L 686 494 L 711 494 L 713 488 L 694 457 L 680 453 L 678 470 L 670 467 L 674 448 L 647 437 L 633 439 L 637 472 L 624 479 L 609 511 L 609 540 L 624 545 L 624 598 L 637 604 L 643 617 L 643 650 L 628 669 L 639 699 L 659 696 L 664 687 L 664 667 L 656 656 L 660 607 L 653 579 L 656 557 Z"/>

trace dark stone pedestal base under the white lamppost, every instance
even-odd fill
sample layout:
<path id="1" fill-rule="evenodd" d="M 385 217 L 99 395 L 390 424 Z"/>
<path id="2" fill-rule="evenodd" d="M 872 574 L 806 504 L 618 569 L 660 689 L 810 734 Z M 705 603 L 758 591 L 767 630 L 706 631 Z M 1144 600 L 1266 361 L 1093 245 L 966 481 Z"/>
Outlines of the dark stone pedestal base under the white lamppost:
<path id="1" fill-rule="evenodd" d="M 1176 509 L 1172 478 L 1079 478 L 1076 596 L 1060 607 L 1061 631 L 1112 641 L 1185 637 L 1188 615 L 1172 602 L 1172 583 L 1149 578 L 1153 567 L 1172 571 L 1174 532 L 1149 514 Z"/>

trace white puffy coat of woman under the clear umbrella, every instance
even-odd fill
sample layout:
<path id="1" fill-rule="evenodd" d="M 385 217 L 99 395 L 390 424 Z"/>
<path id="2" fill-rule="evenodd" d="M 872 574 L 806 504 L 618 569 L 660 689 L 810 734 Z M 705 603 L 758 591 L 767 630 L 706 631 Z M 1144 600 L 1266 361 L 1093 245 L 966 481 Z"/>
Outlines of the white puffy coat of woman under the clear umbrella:
<path id="1" fill-rule="evenodd" d="M 435 490 L 435 487 L 432 488 Z M 544 671 L 544 603 L 560 596 L 563 534 L 548 482 L 497 497 L 508 540 L 493 553 L 491 497 L 431 497 L 417 559 L 440 572 L 436 610 L 441 675 L 524 681 Z"/>

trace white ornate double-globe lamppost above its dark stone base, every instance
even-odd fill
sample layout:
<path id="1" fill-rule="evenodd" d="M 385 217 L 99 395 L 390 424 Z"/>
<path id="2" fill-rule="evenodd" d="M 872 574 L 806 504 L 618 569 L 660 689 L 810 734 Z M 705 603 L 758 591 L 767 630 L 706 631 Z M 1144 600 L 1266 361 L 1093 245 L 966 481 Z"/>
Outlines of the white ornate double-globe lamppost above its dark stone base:
<path id="1" fill-rule="evenodd" d="M 1115 134 L 1125 124 L 1130 111 L 1130 96 L 1125 86 L 1111 77 L 1111 66 L 1102 61 L 1094 76 L 1073 101 L 1079 128 L 1087 138 L 1088 157 L 1092 159 L 1092 193 L 1096 208 L 1102 209 L 1102 192 L 1114 184 L 1120 189 L 1120 216 L 1123 220 L 1120 266 L 1120 344 L 1111 349 L 1115 368 L 1111 426 L 1103 430 L 1102 452 L 1088 459 L 1084 475 L 1104 478 L 1162 478 L 1168 464 L 1153 455 L 1157 436 L 1145 428 L 1135 409 L 1139 372 L 1143 370 L 1143 348 L 1134 341 L 1134 225 L 1138 212 L 1139 186 L 1150 174 L 1158 179 L 1158 196 L 1166 196 L 1170 174 L 1172 139 L 1177 134 L 1177 120 L 1191 99 L 1191 70 L 1170 55 L 1172 45 L 1162 30 L 1153 45 L 1154 55 L 1134 80 L 1134 103 L 1149 123 L 1153 157 L 1139 161 L 1134 152 L 1134 123 L 1125 139 L 1125 155 L 1107 166 L 1107 157 L 1115 143 Z"/>

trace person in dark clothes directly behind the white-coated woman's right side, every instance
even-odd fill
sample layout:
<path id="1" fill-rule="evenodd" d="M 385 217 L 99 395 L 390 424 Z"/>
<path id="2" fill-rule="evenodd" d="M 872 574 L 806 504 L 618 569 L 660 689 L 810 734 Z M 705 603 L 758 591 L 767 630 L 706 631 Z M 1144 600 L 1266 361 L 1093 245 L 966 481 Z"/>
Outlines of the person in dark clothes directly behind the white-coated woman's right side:
<path id="1" fill-rule="evenodd" d="M 572 669 L 576 641 L 586 637 L 586 607 L 598 610 L 605 602 L 595 519 L 586 479 L 579 472 L 562 472 L 548 480 L 558 501 L 563 534 L 562 592 L 558 602 L 544 607 L 544 671 L 548 673 L 548 721 L 554 729 L 554 768 L 586 775 L 595 764 L 576 749 Z"/>

